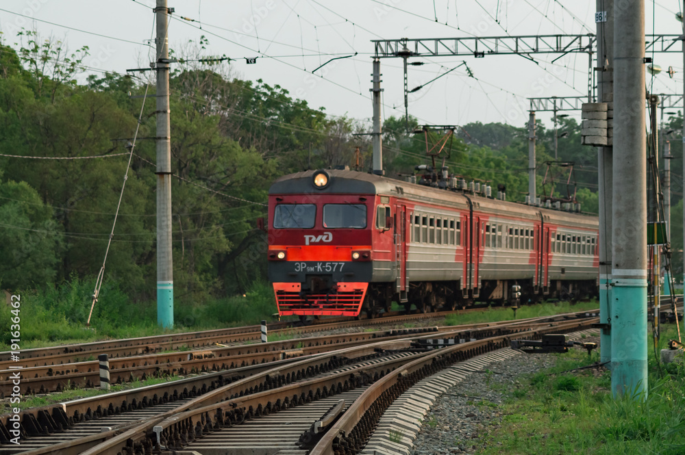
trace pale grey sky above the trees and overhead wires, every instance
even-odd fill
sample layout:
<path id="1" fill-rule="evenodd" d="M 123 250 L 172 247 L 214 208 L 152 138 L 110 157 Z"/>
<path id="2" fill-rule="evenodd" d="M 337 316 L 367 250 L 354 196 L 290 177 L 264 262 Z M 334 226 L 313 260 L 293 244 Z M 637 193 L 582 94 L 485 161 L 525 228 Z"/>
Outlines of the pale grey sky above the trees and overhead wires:
<path id="1" fill-rule="evenodd" d="M 0 30 L 8 44 L 18 41 L 21 27 L 36 29 L 41 38 L 65 40 L 71 51 L 87 45 L 88 73 L 148 66 L 152 60 L 154 0 L 13 0 L 0 4 Z M 169 42 L 177 54 L 206 36 L 202 56 L 227 55 L 233 75 L 278 84 L 291 96 L 306 99 L 328 114 L 369 121 L 372 114 L 371 55 L 373 39 L 448 38 L 465 36 L 530 36 L 595 34 L 595 1 L 562 0 L 169 0 L 175 8 Z M 647 34 L 681 34 L 676 0 L 647 1 Z M 23 14 L 19 16 L 17 14 Z M 654 14 L 653 14 L 654 13 Z M 436 22 L 437 18 L 437 22 Z M 654 20 L 656 18 L 656 20 Z M 34 20 L 35 19 L 35 20 Z M 48 21 L 41 22 L 41 21 Z M 71 28 L 66 28 L 71 27 Z M 201 29 L 200 29 L 201 27 Z M 91 32 L 91 34 L 85 33 Z M 101 34 L 103 36 L 96 36 Z M 676 44 L 681 49 L 680 43 Z M 312 74 L 317 66 L 335 60 Z M 258 57 L 247 64 L 244 57 Z M 419 86 L 454 68 L 434 83 L 410 94 L 409 112 L 419 122 L 464 125 L 507 122 L 523 126 L 531 96 L 586 96 L 588 55 L 532 55 L 536 63 L 516 55 L 475 57 L 412 57 L 408 86 Z M 664 72 L 654 77 L 653 92 L 683 92 L 683 57 L 656 54 Z M 594 64 L 593 64 L 594 65 Z M 665 74 L 673 66 L 673 79 Z M 384 117 L 403 116 L 401 59 L 381 62 Z M 321 77 L 323 76 L 323 77 Z M 651 86 L 651 75 L 647 75 Z M 579 112 L 569 112 L 580 119 Z M 547 114 L 538 114 L 550 126 Z"/>

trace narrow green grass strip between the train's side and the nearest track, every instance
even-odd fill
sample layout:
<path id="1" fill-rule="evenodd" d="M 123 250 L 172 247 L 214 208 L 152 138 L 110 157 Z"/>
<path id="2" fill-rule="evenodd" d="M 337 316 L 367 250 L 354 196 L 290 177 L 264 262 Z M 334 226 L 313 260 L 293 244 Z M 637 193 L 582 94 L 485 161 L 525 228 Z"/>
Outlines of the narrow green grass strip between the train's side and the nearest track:
<path id="1" fill-rule="evenodd" d="M 528 317 L 551 316 L 559 313 L 593 310 L 599 308 L 597 300 L 589 302 L 544 302 L 534 305 L 523 305 L 516 311 L 516 319 Z M 484 311 L 473 313 L 456 313 L 445 317 L 445 325 L 477 324 L 479 322 L 497 322 L 514 320 L 514 311 L 510 307 L 489 307 Z"/>

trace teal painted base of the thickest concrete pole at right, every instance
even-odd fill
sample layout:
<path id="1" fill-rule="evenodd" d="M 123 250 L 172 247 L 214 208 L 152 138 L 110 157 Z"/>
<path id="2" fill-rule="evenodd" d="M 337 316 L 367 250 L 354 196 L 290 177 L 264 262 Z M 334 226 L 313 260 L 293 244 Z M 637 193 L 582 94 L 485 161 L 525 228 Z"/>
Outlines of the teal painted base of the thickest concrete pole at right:
<path id="1" fill-rule="evenodd" d="M 614 278 L 611 305 L 611 390 L 647 398 L 647 280 Z"/>

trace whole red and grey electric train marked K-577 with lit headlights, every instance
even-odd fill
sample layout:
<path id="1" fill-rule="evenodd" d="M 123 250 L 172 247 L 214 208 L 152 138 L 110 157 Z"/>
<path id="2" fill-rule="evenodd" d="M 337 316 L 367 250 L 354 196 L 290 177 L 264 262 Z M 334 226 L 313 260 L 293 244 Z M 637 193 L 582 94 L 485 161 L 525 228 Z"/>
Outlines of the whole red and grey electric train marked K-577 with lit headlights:
<path id="1" fill-rule="evenodd" d="M 447 185 L 443 185 L 447 186 Z M 269 190 L 269 279 L 280 315 L 375 315 L 598 289 L 598 220 L 351 170 Z"/>

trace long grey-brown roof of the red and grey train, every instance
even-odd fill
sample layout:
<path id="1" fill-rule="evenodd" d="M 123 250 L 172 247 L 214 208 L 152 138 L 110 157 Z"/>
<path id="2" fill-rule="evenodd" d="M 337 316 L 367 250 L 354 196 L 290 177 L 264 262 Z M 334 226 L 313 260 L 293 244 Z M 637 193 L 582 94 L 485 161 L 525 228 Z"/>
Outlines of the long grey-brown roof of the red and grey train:
<path id="1" fill-rule="evenodd" d="M 462 192 L 440 190 L 438 188 L 409 183 L 406 181 L 390 179 L 376 174 L 358 172 L 354 170 L 325 170 L 330 181 L 324 189 L 317 189 L 312 183 L 312 177 L 316 170 L 306 170 L 295 174 L 284 175 L 276 179 L 269 188 L 269 194 L 384 194 L 390 196 L 405 196 L 429 204 L 443 204 L 451 207 L 468 207 L 469 200 L 481 211 L 502 210 L 516 213 L 516 216 L 525 218 L 538 218 L 539 213 L 551 222 L 580 222 L 580 224 L 596 225 L 597 216 L 586 213 L 575 213 L 561 210 L 546 209 L 545 207 L 535 207 L 506 200 L 486 198 L 474 194 L 464 194 Z"/>

